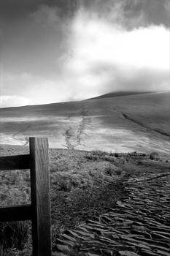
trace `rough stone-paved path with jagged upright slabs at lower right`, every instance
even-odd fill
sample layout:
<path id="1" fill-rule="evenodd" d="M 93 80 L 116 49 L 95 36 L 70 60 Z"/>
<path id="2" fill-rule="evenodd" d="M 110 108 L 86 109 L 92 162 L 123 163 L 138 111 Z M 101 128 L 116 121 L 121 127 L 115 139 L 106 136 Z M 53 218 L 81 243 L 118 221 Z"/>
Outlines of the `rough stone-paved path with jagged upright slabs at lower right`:
<path id="1" fill-rule="evenodd" d="M 170 256 L 170 176 L 154 178 L 152 173 L 147 178 L 134 182 L 131 176 L 117 206 L 67 230 L 54 255 Z"/>

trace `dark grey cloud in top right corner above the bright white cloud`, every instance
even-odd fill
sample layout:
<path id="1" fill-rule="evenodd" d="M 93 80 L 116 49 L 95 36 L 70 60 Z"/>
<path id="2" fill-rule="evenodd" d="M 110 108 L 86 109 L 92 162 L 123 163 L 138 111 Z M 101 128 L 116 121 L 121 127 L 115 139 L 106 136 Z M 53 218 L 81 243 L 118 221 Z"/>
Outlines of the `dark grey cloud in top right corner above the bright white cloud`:
<path id="1" fill-rule="evenodd" d="M 100 17 L 117 21 L 128 29 L 161 24 L 170 26 L 169 0 L 88 0 L 81 3 L 88 10 L 98 12 Z"/>

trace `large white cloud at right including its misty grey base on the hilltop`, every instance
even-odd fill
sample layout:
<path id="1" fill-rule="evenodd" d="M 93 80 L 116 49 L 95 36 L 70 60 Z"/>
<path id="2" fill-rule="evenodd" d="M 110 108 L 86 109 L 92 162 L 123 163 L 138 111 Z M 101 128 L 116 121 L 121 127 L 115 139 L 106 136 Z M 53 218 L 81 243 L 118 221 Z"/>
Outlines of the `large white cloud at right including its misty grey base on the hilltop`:
<path id="1" fill-rule="evenodd" d="M 72 23 L 70 48 L 63 81 L 77 98 L 90 90 L 169 89 L 169 29 L 164 26 L 126 31 L 81 9 Z"/>

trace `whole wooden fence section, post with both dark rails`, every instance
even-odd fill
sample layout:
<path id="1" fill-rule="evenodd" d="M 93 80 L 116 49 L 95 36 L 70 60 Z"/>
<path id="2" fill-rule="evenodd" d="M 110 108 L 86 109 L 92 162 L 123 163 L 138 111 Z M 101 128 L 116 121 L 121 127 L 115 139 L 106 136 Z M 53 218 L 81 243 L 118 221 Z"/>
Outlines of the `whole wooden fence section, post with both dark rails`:
<path id="1" fill-rule="evenodd" d="M 30 138 L 30 154 L 0 157 L 0 170 L 31 171 L 31 204 L 0 208 L 0 222 L 30 219 L 33 256 L 51 256 L 50 178 L 47 138 Z"/>

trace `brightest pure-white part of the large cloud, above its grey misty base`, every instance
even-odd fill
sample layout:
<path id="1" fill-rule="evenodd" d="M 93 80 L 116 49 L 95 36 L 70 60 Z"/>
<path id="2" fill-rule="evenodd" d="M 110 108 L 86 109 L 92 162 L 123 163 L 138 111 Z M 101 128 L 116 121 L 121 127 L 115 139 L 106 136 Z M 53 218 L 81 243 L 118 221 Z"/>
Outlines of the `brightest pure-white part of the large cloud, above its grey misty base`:
<path id="1" fill-rule="evenodd" d="M 163 26 L 125 31 L 80 12 L 72 34 L 70 68 L 74 70 L 96 63 L 169 69 L 169 30 Z"/>

